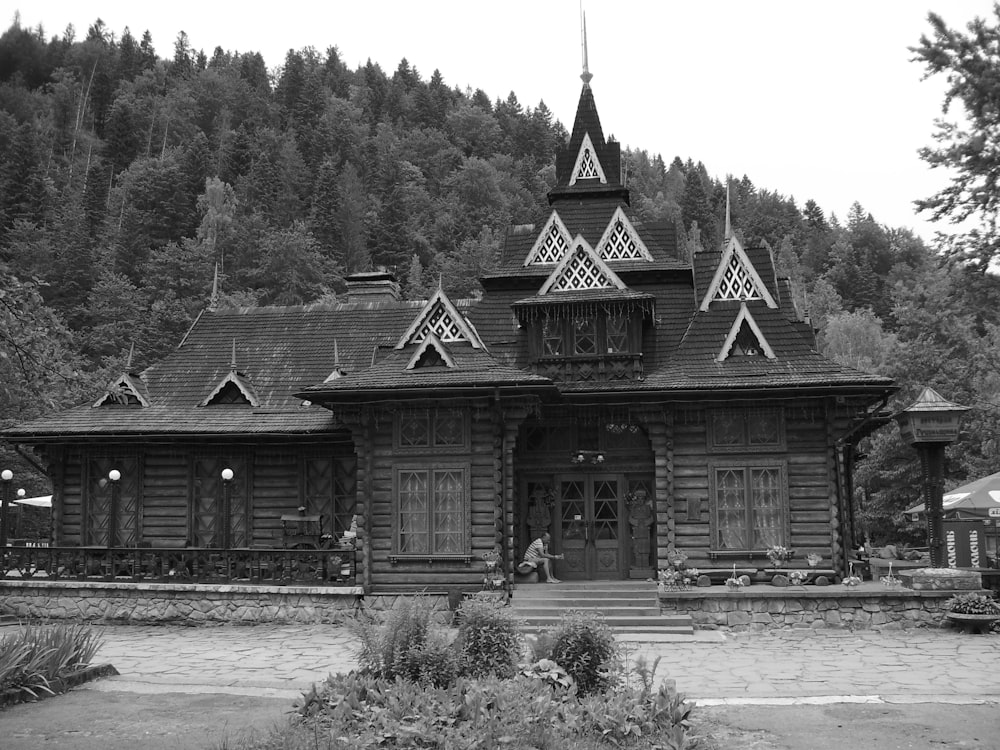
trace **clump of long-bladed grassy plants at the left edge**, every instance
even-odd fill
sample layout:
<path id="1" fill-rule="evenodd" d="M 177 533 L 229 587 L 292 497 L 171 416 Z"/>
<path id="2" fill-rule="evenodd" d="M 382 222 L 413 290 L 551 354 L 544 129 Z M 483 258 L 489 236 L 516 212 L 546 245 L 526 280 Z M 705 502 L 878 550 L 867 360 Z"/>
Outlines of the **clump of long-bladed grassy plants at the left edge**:
<path id="1" fill-rule="evenodd" d="M 54 694 L 52 683 L 89 665 L 102 643 L 88 625 L 22 625 L 0 639 L 0 692 Z"/>

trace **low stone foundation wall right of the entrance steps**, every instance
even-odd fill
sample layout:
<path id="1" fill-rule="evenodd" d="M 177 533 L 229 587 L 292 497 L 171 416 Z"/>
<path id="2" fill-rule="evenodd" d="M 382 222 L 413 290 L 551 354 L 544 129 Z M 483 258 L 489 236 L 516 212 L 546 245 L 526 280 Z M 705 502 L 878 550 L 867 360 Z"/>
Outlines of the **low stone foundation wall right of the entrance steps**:
<path id="1" fill-rule="evenodd" d="M 842 587 L 807 587 L 808 593 L 761 586 L 760 591 L 719 595 L 669 592 L 660 595 L 664 614 L 688 614 L 696 629 L 739 631 L 786 628 L 903 630 L 941 627 L 944 602 L 955 592 L 848 592 Z"/>

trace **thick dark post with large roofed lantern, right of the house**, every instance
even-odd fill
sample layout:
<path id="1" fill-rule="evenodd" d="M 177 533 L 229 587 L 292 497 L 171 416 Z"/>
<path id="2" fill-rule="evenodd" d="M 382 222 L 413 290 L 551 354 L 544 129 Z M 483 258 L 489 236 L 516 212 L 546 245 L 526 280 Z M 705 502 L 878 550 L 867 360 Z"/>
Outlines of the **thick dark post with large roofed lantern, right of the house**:
<path id="1" fill-rule="evenodd" d="M 920 456 L 927 511 L 927 546 L 931 566 L 945 565 L 944 550 L 944 449 L 958 437 L 959 421 L 968 406 L 944 399 L 933 388 L 924 388 L 912 404 L 895 415 L 899 432 Z"/>

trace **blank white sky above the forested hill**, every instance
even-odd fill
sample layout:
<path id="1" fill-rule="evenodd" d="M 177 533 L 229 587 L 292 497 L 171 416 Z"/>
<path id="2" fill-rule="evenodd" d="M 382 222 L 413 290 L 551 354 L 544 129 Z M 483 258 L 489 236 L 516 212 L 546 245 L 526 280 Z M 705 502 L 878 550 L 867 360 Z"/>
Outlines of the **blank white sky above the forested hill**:
<path id="1" fill-rule="evenodd" d="M 592 87 L 606 135 L 624 146 L 704 162 L 720 179 L 813 199 L 845 218 L 935 229 L 912 202 L 946 184 L 917 149 L 932 143 L 944 83 L 910 62 L 927 12 L 964 28 L 992 0 L 584 0 Z M 11 7 L 11 6 L 8 6 Z M 368 58 L 391 75 L 406 57 L 425 80 L 544 100 L 567 129 L 580 95 L 579 0 L 369 0 L 136 3 L 13 0 L 21 24 L 77 38 L 100 17 L 117 36 L 149 30 L 161 57 L 177 33 L 211 55 L 336 46 L 349 68 Z"/>

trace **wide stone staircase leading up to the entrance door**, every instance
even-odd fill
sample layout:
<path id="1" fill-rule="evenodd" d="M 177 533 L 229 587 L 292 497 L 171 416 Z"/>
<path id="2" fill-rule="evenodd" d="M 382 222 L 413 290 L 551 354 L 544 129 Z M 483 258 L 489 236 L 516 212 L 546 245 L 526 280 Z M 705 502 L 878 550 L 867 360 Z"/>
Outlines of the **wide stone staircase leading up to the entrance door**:
<path id="1" fill-rule="evenodd" d="M 694 636 L 689 615 L 660 614 L 651 581 L 573 581 L 515 585 L 510 603 L 528 630 L 559 622 L 569 610 L 594 612 L 614 631 Z"/>

